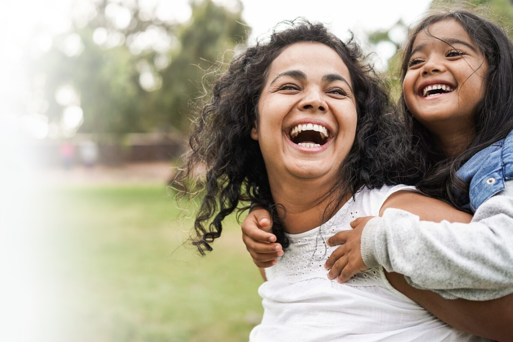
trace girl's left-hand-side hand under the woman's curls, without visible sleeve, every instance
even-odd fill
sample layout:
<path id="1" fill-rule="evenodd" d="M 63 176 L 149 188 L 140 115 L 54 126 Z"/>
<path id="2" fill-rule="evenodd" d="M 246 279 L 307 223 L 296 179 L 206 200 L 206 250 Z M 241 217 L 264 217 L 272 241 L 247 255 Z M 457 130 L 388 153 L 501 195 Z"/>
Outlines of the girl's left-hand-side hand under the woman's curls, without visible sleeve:
<path id="1" fill-rule="evenodd" d="M 269 212 L 261 207 L 255 207 L 242 223 L 242 240 L 253 262 L 260 268 L 276 264 L 276 258 L 283 255 L 282 245 L 274 244 L 276 236 L 271 231 Z"/>

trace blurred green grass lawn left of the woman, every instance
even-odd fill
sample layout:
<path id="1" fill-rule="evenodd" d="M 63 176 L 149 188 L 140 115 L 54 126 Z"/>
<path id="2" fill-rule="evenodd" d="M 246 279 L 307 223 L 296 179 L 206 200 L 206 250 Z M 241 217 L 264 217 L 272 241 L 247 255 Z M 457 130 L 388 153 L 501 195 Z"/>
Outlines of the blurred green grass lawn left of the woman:
<path id="1" fill-rule="evenodd" d="M 245 341 L 259 323 L 262 279 L 234 218 L 199 257 L 164 187 L 61 188 L 48 198 L 63 340 Z"/>

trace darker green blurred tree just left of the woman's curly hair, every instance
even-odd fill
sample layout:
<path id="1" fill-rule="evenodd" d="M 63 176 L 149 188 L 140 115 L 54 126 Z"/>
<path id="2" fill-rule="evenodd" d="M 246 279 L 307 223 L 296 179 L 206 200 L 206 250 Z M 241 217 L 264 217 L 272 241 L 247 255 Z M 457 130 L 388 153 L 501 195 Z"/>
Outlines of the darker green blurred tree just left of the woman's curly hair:
<path id="1" fill-rule="evenodd" d="M 240 10 L 232 13 L 210 0 L 192 7 L 191 22 L 177 32 L 181 50 L 172 54 L 171 64 L 162 71 L 161 91 L 152 94 L 158 111 L 154 123 L 166 127 L 170 118 L 174 127 L 188 129 L 188 109 L 194 98 L 204 95 L 203 85 L 208 87 L 210 81 L 204 70 L 223 68 L 225 57 L 231 59 L 225 51 L 246 43 L 249 29 L 241 24 Z"/>

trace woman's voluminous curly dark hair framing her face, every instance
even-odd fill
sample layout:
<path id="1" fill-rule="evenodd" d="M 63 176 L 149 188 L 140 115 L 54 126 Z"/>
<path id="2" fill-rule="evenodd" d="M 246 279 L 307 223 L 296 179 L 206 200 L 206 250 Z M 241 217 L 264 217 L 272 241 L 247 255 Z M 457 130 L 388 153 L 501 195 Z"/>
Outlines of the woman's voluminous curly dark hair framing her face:
<path id="1" fill-rule="evenodd" d="M 185 180 L 194 170 L 206 168 L 200 192 L 204 197 L 191 237 L 203 255 L 205 250 L 212 250 L 211 243 L 221 235 L 223 219 L 240 202 L 246 205 L 241 210 L 249 203 L 269 210 L 277 242 L 283 248 L 288 246 L 259 144 L 250 133 L 258 122 L 257 104 L 269 66 L 291 44 L 318 42 L 336 51 L 349 69 L 356 96 L 357 135 L 342 163 L 330 207 L 336 208 L 344 195 L 355 194 L 363 186 L 414 184 L 420 177 L 422 166 L 412 154 L 405 128 L 392 112 L 388 93 L 373 68 L 362 63 L 365 56 L 353 37 L 344 44 L 322 24 L 304 19 L 285 25 L 288 28 L 274 30 L 268 42 L 257 43 L 233 59 L 214 82 L 211 99 L 201 109 L 190 136 L 191 151 L 179 178 Z M 325 215 L 330 213 L 325 211 Z"/>

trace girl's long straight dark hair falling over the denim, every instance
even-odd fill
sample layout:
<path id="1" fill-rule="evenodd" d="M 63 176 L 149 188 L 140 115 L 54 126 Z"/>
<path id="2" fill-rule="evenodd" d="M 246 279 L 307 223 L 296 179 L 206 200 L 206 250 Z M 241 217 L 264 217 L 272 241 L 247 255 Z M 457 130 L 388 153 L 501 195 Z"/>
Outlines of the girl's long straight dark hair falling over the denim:
<path id="1" fill-rule="evenodd" d="M 488 63 L 485 95 L 473 112 L 475 138 L 460 155 L 446 157 L 433 135 L 411 115 L 404 96 L 401 96 L 399 107 L 420 148 L 423 164 L 428 166 L 418 188 L 429 196 L 444 199 L 463 209 L 461 195 L 468 196 L 468 184 L 458 178 L 456 172 L 470 157 L 504 138 L 513 129 L 513 45 L 500 26 L 477 14 L 466 10 L 434 13 L 425 17 L 410 34 L 403 54 L 401 82 L 404 81 L 417 34 L 421 31 L 429 34 L 429 25 L 446 19 L 456 20 L 467 31 Z"/>

